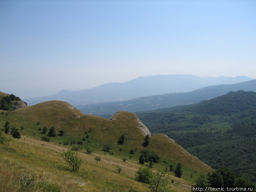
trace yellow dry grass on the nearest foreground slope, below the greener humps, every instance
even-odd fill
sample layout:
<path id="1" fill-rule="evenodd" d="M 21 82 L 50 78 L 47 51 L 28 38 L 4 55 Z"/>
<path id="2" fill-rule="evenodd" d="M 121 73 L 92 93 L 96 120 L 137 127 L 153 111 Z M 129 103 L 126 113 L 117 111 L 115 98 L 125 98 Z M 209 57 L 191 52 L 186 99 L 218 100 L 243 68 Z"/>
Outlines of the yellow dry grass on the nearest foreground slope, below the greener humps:
<path id="1" fill-rule="evenodd" d="M 67 165 L 60 154 L 67 150 L 62 146 L 42 142 L 22 136 L 14 139 L 10 146 L 0 144 L 1 149 L 1 178 L 2 191 L 20 191 L 18 176 L 27 173 L 35 176 L 37 181 L 49 181 L 60 186 L 62 191 L 149 191 L 148 185 L 134 180 L 138 163 L 123 162 L 113 156 L 102 154 L 80 153 L 82 166 L 76 172 Z M 96 163 L 95 155 L 101 162 Z M 123 167 L 117 173 L 116 167 Z M 177 191 L 190 191 L 187 181 L 175 178 L 172 188 Z M 180 184 L 177 184 L 180 182 Z"/>

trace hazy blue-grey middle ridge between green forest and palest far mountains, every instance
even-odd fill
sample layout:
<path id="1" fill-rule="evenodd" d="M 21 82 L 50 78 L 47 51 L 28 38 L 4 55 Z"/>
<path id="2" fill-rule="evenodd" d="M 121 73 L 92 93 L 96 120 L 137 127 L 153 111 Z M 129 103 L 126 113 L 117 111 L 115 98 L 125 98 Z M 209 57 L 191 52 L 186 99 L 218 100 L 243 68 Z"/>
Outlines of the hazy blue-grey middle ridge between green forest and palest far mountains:
<path id="1" fill-rule="evenodd" d="M 187 93 L 170 93 L 140 97 L 127 101 L 89 104 L 78 106 L 78 109 L 84 114 L 113 114 L 118 110 L 139 112 L 159 108 L 169 108 L 177 105 L 189 105 L 227 94 L 230 91 L 238 90 L 256 92 L 256 80 L 236 84 L 207 86 Z"/>

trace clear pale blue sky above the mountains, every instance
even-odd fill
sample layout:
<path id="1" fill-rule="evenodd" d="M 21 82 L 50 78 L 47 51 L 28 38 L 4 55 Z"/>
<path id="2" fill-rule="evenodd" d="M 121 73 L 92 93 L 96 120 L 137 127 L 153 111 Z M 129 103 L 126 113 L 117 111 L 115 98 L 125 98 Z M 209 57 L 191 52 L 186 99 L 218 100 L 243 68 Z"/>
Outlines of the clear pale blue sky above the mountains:
<path id="1" fill-rule="evenodd" d="M 0 0 L 1 92 L 168 74 L 256 78 L 256 1 Z"/>

